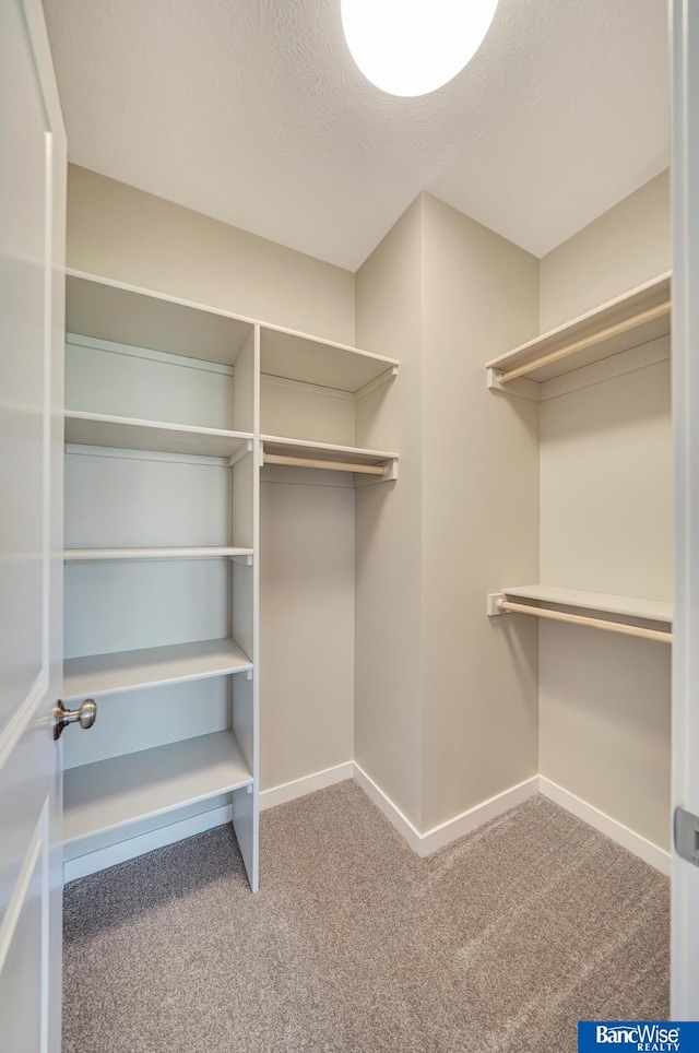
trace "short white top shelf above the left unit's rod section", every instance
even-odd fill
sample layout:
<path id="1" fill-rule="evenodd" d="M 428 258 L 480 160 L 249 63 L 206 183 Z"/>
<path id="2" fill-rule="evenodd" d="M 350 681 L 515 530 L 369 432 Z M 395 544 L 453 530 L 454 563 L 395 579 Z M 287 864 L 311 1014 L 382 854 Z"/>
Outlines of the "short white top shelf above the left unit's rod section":
<path id="1" fill-rule="evenodd" d="M 269 326 L 261 328 L 260 355 L 264 375 L 352 392 L 398 368 L 395 358 Z"/>

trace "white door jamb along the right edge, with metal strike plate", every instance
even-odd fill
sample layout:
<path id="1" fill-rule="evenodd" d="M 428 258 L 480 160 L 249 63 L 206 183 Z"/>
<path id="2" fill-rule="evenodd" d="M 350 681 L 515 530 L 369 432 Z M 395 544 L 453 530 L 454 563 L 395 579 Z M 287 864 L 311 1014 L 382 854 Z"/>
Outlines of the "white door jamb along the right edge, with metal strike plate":
<path id="1" fill-rule="evenodd" d="M 673 808 L 699 816 L 699 3 L 672 0 Z M 685 844 L 699 862 L 699 831 Z M 673 850 L 672 1017 L 699 1019 L 699 866 Z"/>

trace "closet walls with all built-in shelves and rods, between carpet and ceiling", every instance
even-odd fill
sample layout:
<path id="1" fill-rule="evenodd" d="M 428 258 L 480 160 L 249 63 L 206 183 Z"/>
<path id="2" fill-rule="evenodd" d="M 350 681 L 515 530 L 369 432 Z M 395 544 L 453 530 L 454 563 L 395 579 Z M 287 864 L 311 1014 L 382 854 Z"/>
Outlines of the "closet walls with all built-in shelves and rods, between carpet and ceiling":
<path id="1" fill-rule="evenodd" d="M 73 166 L 68 268 L 66 878 L 233 820 L 257 889 L 353 777 L 667 871 L 667 175 L 541 260 L 420 194 L 352 274 Z"/>

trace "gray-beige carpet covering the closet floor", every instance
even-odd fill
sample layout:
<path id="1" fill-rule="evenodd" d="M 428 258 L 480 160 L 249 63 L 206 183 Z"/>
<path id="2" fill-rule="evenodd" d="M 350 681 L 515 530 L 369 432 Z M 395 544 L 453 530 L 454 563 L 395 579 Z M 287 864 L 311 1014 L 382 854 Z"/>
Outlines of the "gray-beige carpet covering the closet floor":
<path id="1" fill-rule="evenodd" d="M 354 783 L 73 882 L 63 1053 L 573 1053 L 668 1014 L 668 883 L 537 796 L 419 860 Z"/>

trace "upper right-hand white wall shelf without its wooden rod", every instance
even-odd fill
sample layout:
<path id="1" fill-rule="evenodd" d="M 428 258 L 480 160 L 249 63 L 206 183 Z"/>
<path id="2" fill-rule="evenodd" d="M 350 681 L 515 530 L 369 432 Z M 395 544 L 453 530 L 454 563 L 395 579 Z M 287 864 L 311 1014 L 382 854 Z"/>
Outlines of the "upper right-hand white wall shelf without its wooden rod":
<path id="1" fill-rule="evenodd" d="M 525 366 L 528 363 L 541 358 L 544 355 L 559 351 L 578 341 L 585 340 L 593 334 L 602 333 L 613 326 L 628 321 L 635 316 L 667 303 L 671 297 L 670 284 L 670 274 L 663 274 L 661 277 L 639 286 L 625 296 L 611 300 L 608 304 L 593 311 L 589 311 L 587 315 L 581 315 L 565 326 L 552 329 L 549 332 L 543 333 L 541 336 L 536 336 L 534 340 L 530 340 L 519 347 L 514 347 L 498 358 L 493 358 L 487 363 L 487 368 L 498 370 L 499 372 L 518 369 L 520 366 Z M 567 358 L 561 358 L 559 362 L 534 369 L 531 375 L 523 374 L 522 379 L 543 383 L 546 380 L 552 380 L 554 377 L 560 377 L 576 369 L 580 369 L 582 366 L 611 358 L 631 347 L 638 347 L 659 336 L 666 336 L 668 333 L 670 315 L 666 313 L 660 318 L 636 326 L 616 336 L 611 336 L 601 343 L 595 343 L 591 347 L 577 352 Z M 502 390 L 507 391 L 508 386 L 505 384 Z"/>

